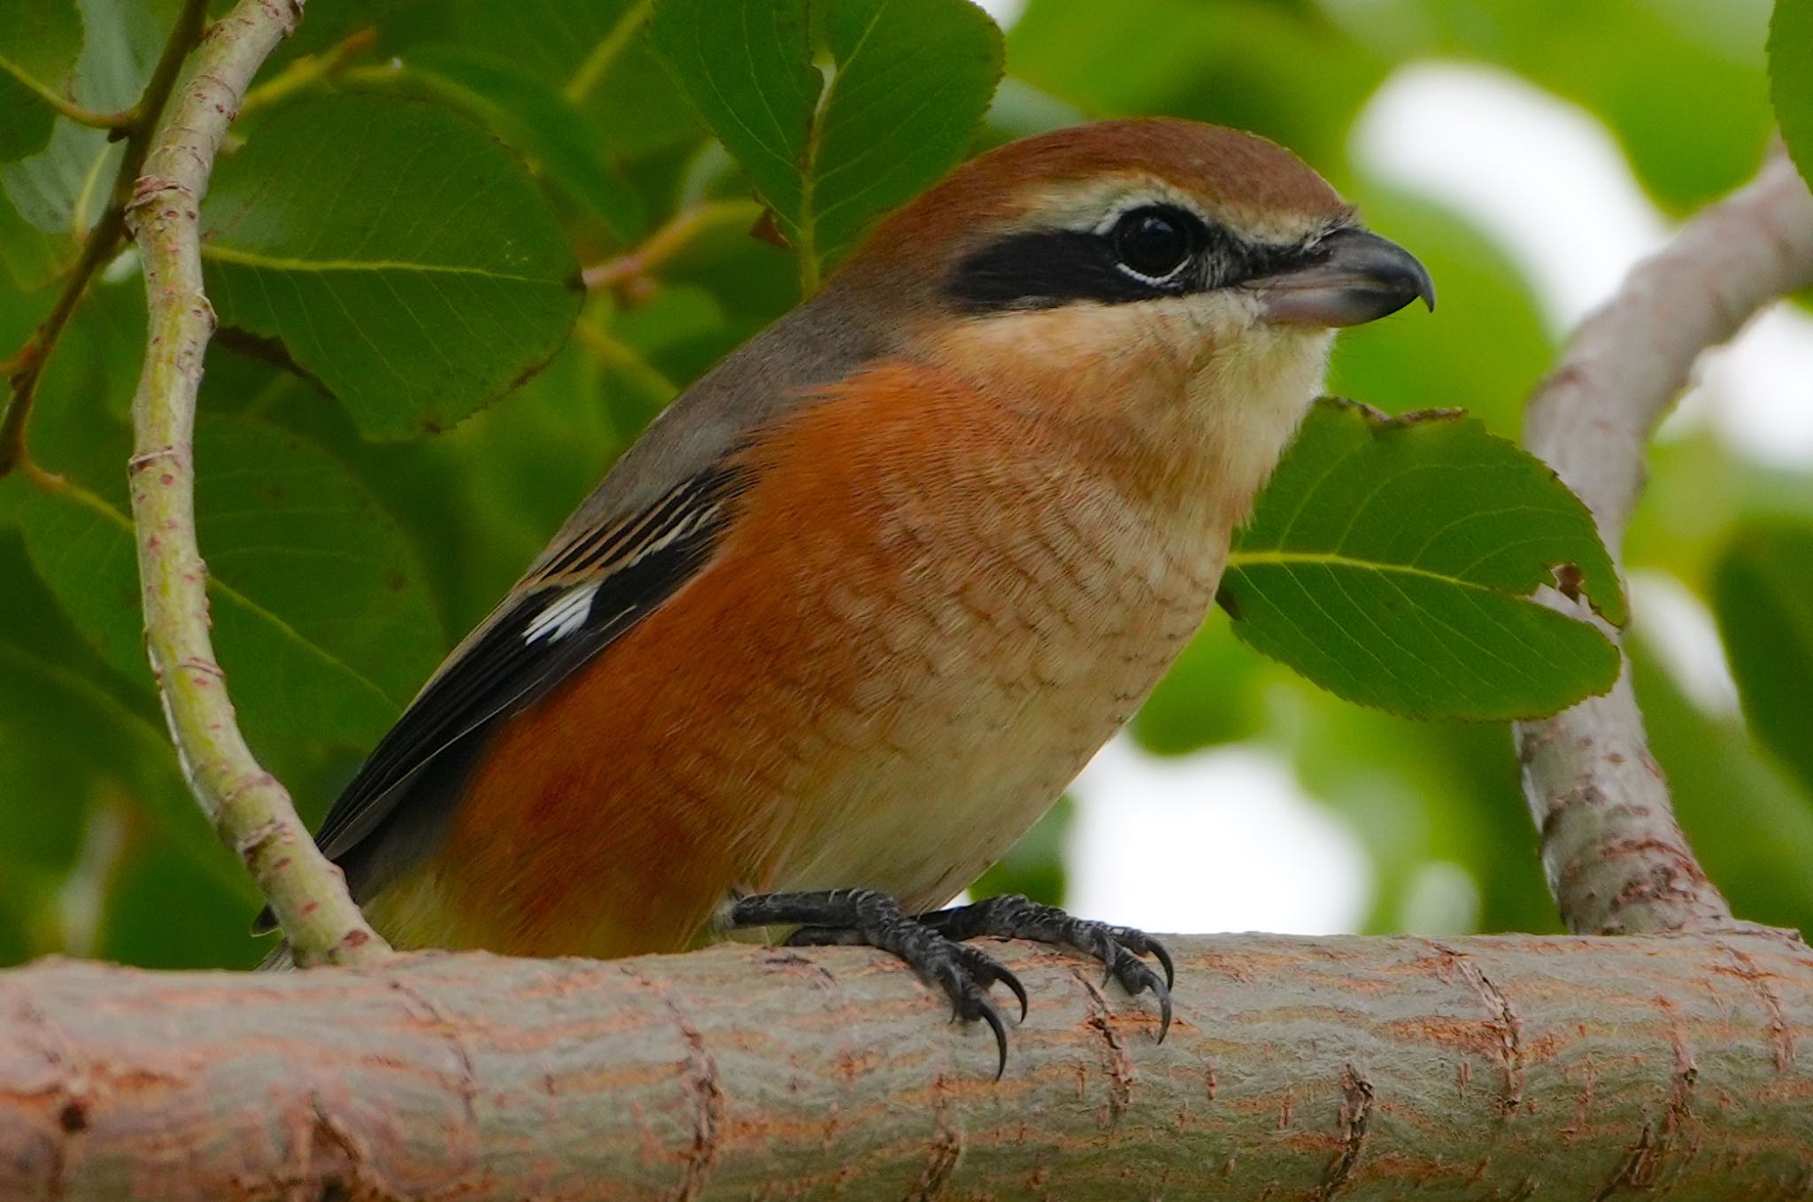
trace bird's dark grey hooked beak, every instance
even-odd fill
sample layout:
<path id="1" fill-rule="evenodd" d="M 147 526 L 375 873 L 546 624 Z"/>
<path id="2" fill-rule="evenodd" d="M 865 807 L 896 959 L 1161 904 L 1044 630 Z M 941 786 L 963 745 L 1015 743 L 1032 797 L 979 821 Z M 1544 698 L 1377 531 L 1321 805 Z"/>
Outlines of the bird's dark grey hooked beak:
<path id="1" fill-rule="evenodd" d="M 1409 250 L 1378 234 L 1334 230 L 1287 272 L 1255 279 L 1265 321 L 1302 326 L 1358 326 L 1396 314 L 1421 297 L 1436 308 L 1436 285 Z"/>

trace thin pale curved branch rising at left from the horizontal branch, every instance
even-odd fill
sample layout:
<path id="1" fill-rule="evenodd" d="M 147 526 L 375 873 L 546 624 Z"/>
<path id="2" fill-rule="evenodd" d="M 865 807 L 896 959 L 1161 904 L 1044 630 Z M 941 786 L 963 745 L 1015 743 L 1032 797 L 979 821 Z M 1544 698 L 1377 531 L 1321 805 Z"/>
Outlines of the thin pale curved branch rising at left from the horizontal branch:
<path id="1" fill-rule="evenodd" d="M 201 286 L 198 210 L 239 98 L 299 16 L 301 0 L 241 0 L 208 31 L 189 89 L 170 109 L 127 207 L 150 310 L 132 399 L 132 519 L 145 645 L 201 809 L 257 879 L 301 963 L 372 963 L 388 946 L 234 722 L 227 676 L 208 638 L 207 564 L 194 522 L 196 390 L 214 334 L 214 308 Z"/>

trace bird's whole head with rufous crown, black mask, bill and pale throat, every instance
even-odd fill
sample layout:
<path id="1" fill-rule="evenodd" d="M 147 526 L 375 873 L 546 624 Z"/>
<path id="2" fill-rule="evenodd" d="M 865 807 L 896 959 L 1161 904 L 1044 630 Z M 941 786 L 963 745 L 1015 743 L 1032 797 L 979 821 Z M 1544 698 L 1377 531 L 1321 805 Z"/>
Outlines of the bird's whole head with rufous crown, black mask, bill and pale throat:
<path id="1" fill-rule="evenodd" d="M 829 292 L 912 354 L 1151 450 L 1160 475 L 1215 475 L 1242 511 L 1333 330 L 1434 308 L 1423 267 L 1294 154 L 1182 120 L 990 150 L 883 221 Z"/>

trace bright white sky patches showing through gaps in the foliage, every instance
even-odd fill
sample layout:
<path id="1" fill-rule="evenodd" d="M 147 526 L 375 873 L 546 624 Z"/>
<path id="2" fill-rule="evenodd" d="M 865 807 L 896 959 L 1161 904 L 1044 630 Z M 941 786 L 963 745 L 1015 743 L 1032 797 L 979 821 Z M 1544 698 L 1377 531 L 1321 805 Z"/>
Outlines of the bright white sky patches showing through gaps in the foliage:
<path id="1" fill-rule="evenodd" d="M 1024 7 L 981 4 L 1003 24 Z M 1452 63 L 1400 71 L 1362 112 L 1352 150 L 1362 170 L 1440 199 L 1496 237 L 1557 334 L 1670 232 L 1595 118 L 1505 73 Z M 1663 433 L 1711 424 L 1755 459 L 1813 462 L 1809 364 L 1813 319 L 1764 314 L 1708 355 Z M 1735 687 L 1704 606 L 1655 575 L 1637 573 L 1632 593 L 1688 694 L 1733 712 Z M 1120 738 L 1073 792 L 1068 905 L 1079 914 L 1153 930 L 1325 934 L 1354 930 L 1371 905 L 1360 843 L 1265 749 L 1159 760 Z M 1427 876 L 1412 894 L 1461 917 L 1454 912 L 1470 905 L 1467 881 L 1440 867 Z M 1440 912 L 1430 923 L 1449 925 Z"/>

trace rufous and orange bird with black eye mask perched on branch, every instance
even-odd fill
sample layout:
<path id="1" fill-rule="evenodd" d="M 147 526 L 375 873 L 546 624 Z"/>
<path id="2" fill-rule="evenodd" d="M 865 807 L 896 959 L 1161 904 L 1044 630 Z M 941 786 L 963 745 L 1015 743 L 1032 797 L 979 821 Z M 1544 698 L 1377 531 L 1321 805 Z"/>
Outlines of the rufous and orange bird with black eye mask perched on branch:
<path id="1" fill-rule="evenodd" d="M 1416 257 L 1256 134 L 988 150 L 644 431 L 317 843 L 402 948 L 872 945 L 1004 1066 L 990 990 L 1026 994 L 968 941 L 1024 937 L 1169 1024 L 1151 935 L 946 903 L 1204 624 L 1334 332 L 1418 297 Z"/>

